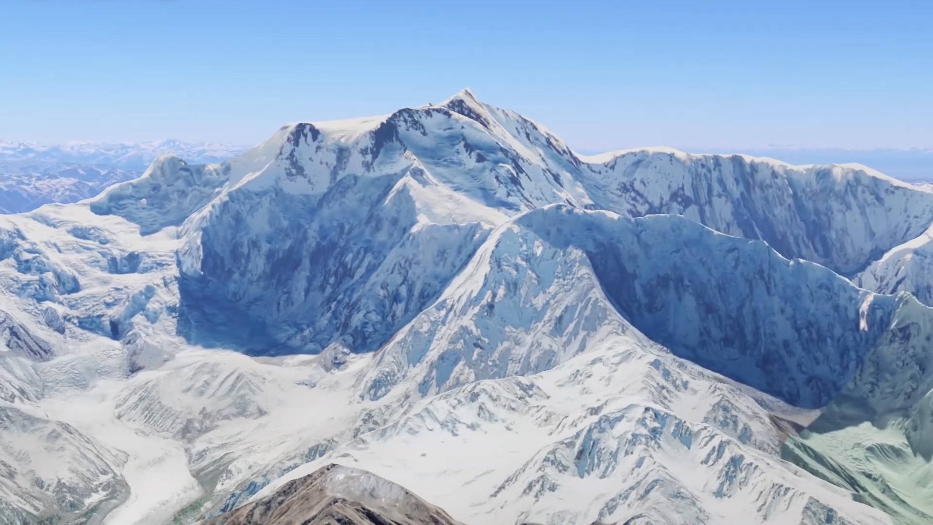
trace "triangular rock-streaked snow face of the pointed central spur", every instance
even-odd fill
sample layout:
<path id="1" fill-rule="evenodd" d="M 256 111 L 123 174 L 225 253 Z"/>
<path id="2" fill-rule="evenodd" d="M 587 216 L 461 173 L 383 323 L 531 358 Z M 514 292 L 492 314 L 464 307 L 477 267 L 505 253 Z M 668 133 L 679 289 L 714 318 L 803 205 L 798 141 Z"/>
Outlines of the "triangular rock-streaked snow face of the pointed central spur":
<path id="1" fill-rule="evenodd" d="M 510 221 L 380 350 L 362 395 L 535 374 L 613 337 L 645 340 L 606 300 L 585 254 Z"/>

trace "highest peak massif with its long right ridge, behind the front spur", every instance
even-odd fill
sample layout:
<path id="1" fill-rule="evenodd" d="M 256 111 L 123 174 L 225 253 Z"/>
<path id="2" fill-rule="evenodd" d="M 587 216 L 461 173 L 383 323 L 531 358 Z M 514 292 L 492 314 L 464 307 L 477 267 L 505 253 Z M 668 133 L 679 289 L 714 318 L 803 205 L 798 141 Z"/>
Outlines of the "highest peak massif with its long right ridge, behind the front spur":
<path id="1" fill-rule="evenodd" d="M 581 157 L 468 91 L 383 117 L 285 126 L 228 163 L 162 158 L 91 210 L 142 234 L 181 225 L 179 332 L 274 354 L 378 348 L 491 228 L 550 204 L 683 215 L 843 276 L 933 222 L 933 193 L 861 166 L 667 149 Z"/>

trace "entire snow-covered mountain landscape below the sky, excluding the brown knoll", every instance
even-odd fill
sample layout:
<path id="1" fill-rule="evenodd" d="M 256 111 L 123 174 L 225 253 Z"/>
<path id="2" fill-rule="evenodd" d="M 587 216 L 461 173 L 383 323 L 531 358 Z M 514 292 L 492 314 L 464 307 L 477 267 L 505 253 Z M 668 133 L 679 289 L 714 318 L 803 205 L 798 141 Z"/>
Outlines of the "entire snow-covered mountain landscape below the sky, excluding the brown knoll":
<path id="1" fill-rule="evenodd" d="M 222 520 L 335 463 L 466 524 L 924 523 L 928 281 L 869 277 L 931 224 L 863 166 L 581 156 L 468 91 L 163 156 L 0 217 L 0 406 L 84 444 L 0 498 Z"/>

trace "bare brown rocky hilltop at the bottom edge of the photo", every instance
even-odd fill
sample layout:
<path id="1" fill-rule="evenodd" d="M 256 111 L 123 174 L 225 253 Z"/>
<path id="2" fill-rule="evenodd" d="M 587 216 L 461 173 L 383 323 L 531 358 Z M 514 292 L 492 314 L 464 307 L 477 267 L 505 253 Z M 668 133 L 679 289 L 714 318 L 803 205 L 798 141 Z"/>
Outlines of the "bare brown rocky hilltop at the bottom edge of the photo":
<path id="1" fill-rule="evenodd" d="M 369 472 L 330 464 L 203 525 L 463 525 Z"/>

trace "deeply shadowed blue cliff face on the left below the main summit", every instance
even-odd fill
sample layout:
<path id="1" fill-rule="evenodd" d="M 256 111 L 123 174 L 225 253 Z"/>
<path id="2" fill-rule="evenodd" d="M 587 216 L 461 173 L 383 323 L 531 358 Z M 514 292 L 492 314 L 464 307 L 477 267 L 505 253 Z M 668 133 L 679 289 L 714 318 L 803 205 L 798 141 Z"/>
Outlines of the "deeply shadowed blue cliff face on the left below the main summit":
<path id="1" fill-rule="evenodd" d="M 202 342 L 224 333 L 219 342 L 248 341 L 255 353 L 334 342 L 378 348 L 487 234 L 479 222 L 419 224 L 403 183 L 344 177 L 319 198 L 272 192 L 243 206 L 231 193 L 217 205 L 220 219 L 188 237 L 179 255 L 186 336 Z"/>

